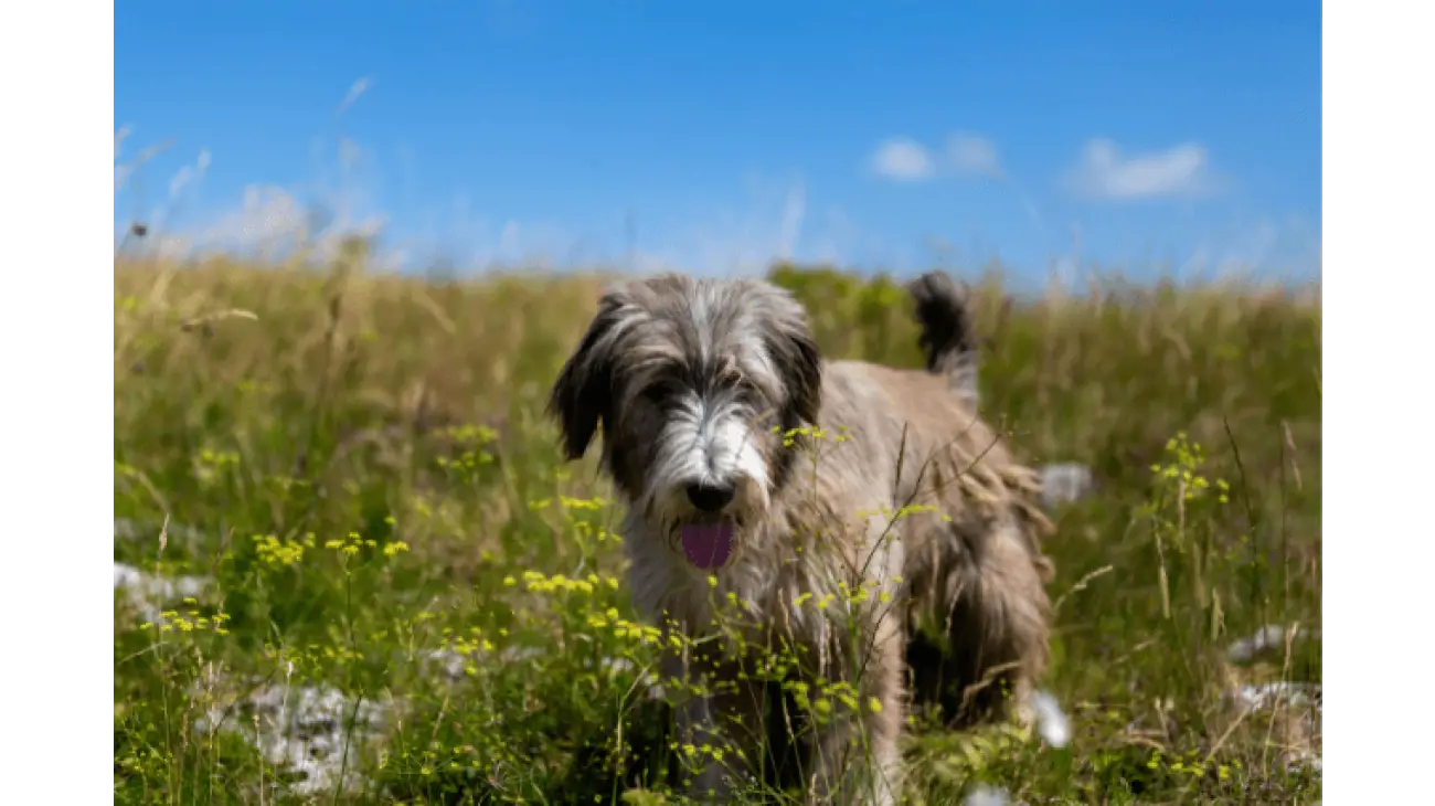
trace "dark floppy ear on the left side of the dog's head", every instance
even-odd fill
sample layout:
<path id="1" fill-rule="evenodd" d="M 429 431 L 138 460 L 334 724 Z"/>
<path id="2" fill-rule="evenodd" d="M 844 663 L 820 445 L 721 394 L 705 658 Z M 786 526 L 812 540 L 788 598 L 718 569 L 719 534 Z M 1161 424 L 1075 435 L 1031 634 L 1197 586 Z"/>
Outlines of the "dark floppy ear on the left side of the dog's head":
<path id="1" fill-rule="evenodd" d="M 613 419 L 613 334 L 623 305 L 618 291 L 603 295 L 588 331 L 552 384 L 548 413 L 558 420 L 570 460 L 581 459 L 598 423 Z"/>

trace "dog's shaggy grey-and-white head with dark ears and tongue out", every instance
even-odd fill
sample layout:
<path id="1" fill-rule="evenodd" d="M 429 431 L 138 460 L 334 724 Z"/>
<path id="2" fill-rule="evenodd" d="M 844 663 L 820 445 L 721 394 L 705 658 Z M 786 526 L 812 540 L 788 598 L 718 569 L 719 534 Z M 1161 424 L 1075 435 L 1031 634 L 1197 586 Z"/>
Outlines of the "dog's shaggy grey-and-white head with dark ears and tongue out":
<path id="1" fill-rule="evenodd" d="M 786 483 L 782 432 L 817 420 L 821 371 L 785 291 L 662 275 L 603 297 L 550 410 L 568 459 L 601 425 L 604 468 L 647 531 L 718 569 Z"/>

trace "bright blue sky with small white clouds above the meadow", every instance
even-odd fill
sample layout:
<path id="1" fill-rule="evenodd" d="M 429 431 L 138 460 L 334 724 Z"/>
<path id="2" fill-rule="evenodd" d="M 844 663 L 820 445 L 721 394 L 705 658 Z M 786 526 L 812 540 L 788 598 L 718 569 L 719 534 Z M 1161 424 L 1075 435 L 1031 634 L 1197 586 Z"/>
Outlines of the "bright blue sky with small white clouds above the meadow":
<path id="1" fill-rule="evenodd" d="M 1309 278 L 1320 98 L 1313 0 L 131 0 L 119 162 L 172 145 L 116 217 L 243 245 L 321 202 L 412 267 Z"/>

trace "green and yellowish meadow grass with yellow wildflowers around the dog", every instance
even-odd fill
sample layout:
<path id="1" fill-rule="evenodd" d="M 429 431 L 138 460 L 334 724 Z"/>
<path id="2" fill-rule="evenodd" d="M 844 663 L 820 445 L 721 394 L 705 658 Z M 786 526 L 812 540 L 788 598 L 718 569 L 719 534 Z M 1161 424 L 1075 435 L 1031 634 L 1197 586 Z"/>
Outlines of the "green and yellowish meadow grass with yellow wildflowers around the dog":
<path id="1" fill-rule="evenodd" d="M 773 277 L 828 356 L 918 366 L 894 285 Z M 1096 478 L 1053 512 L 1048 545 L 1046 687 L 1073 737 L 1050 747 L 914 716 L 905 795 L 1319 799 L 1317 777 L 1280 763 L 1309 739 L 1293 736 L 1300 720 L 1224 700 L 1240 683 L 1322 677 L 1314 641 L 1225 663 L 1263 624 L 1319 628 L 1319 307 L 1236 285 L 1108 285 L 1013 303 L 993 277 L 977 297 L 994 340 L 987 416 L 1030 462 Z M 116 802 L 682 800 L 690 754 L 644 696 L 656 647 L 631 622 L 617 506 L 591 457 L 561 462 L 542 417 L 598 287 L 425 284 L 366 274 L 359 254 L 326 271 L 116 270 L 115 513 L 138 525 L 116 561 L 212 579 L 158 618 L 116 601 Z M 456 680 L 426 660 L 438 650 Z M 363 776 L 356 789 L 276 786 L 293 770 L 235 731 L 273 739 L 235 703 L 284 681 L 293 698 L 347 696 L 352 741 L 327 752 Z M 347 723 L 370 711 L 377 739 L 360 740 Z M 228 730 L 207 730 L 217 721 Z M 749 799 L 799 797 L 766 789 Z"/>

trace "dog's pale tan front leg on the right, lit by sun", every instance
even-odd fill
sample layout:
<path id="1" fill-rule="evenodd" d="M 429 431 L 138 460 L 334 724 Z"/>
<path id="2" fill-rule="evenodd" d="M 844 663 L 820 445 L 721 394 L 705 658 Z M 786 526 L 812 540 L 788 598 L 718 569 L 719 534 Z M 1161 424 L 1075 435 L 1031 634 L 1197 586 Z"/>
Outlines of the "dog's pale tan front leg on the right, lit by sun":
<path id="1" fill-rule="evenodd" d="M 824 803 L 895 803 L 903 724 L 903 627 L 885 614 L 855 675 L 857 713 L 835 714 L 815 736 L 812 793 Z"/>

